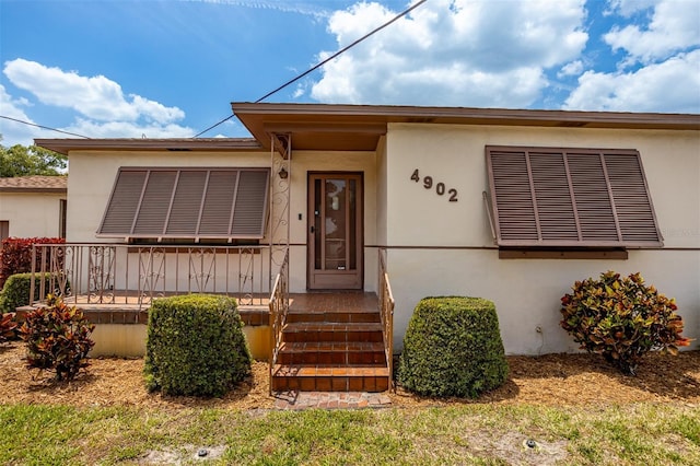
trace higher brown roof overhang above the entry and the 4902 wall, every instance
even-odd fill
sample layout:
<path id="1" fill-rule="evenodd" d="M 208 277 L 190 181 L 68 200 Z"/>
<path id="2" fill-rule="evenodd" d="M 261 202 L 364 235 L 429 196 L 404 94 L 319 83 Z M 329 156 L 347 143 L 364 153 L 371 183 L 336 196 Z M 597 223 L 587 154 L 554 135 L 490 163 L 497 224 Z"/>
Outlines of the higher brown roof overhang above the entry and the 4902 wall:
<path id="1" fill-rule="evenodd" d="M 291 135 L 293 150 L 374 151 L 389 124 L 700 129 L 700 115 L 234 102 L 233 113 L 266 149 Z"/>

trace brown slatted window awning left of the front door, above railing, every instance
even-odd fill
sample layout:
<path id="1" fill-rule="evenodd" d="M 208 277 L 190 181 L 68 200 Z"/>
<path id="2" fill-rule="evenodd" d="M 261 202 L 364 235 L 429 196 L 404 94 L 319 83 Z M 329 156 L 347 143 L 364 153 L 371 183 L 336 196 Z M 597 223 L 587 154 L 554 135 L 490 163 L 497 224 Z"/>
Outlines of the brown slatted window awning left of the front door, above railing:
<path id="1" fill-rule="evenodd" d="M 267 168 L 121 167 L 97 230 L 124 238 L 261 238 Z"/>

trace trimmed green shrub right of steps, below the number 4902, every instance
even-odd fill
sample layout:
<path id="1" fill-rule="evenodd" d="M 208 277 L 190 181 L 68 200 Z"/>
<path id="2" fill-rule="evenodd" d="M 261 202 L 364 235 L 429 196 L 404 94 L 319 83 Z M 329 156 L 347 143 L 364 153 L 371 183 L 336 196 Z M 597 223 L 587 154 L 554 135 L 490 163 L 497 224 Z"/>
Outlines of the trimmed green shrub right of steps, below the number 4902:
<path id="1" fill-rule="evenodd" d="M 431 396 L 475 398 L 501 386 L 508 361 L 495 306 L 480 298 L 421 300 L 408 323 L 398 381 Z"/>

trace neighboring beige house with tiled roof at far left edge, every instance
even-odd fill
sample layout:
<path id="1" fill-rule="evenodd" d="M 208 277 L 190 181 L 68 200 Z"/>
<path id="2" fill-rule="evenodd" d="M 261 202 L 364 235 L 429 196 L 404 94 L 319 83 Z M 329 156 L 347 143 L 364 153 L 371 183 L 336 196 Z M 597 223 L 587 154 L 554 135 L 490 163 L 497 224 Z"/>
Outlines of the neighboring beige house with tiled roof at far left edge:
<path id="1" fill-rule="evenodd" d="M 65 237 L 68 178 L 0 178 L 0 242 L 14 237 Z"/>

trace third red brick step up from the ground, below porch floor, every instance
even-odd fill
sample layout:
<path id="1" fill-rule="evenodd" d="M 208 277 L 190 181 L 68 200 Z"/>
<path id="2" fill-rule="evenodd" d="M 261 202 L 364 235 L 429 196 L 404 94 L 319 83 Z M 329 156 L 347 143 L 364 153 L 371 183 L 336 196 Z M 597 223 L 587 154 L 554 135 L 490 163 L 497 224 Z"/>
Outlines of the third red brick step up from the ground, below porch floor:
<path id="1" fill-rule="evenodd" d="M 313 341 L 370 341 L 382 342 L 380 323 L 288 323 L 282 327 L 282 340 L 288 342 Z"/>

